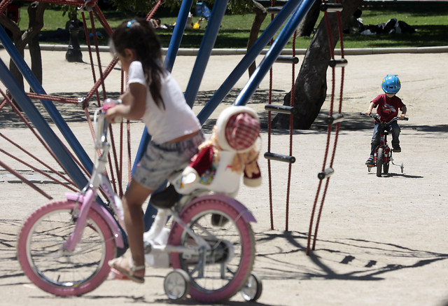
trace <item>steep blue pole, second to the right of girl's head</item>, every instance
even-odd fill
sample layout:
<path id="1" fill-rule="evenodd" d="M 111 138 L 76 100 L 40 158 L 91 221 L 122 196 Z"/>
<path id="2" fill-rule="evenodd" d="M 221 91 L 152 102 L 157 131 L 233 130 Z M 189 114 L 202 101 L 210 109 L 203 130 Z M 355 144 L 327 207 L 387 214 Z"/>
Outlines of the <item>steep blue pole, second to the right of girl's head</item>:
<path id="1" fill-rule="evenodd" d="M 207 63 L 209 62 L 211 49 L 215 45 L 216 36 L 218 36 L 227 4 L 228 0 L 215 1 L 213 9 L 211 10 L 211 18 L 207 25 L 207 29 L 205 30 L 204 37 L 202 38 L 195 66 L 193 67 L 190 81 L 188 82 L 187 90 L 185 92 L 185 98 L 190 107 L 193 107 L 193 104 L 195 103 L 197 91 L 199 90 L 202 77 L 204 76 L 205 67 L 207 67 Z"/>

